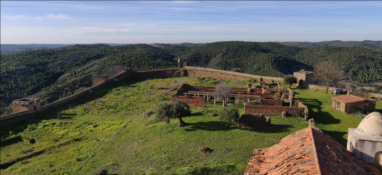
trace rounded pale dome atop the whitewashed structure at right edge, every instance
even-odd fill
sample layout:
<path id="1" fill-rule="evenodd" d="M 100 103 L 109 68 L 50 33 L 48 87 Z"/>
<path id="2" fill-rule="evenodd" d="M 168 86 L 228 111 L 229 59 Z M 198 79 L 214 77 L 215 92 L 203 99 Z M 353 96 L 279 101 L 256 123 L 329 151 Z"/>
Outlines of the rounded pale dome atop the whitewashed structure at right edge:
<path id="1" fill-rule="evenodd" d="M 382 115 L 372 112 L 359 123 L 357 131 L 382 136 Z"/>

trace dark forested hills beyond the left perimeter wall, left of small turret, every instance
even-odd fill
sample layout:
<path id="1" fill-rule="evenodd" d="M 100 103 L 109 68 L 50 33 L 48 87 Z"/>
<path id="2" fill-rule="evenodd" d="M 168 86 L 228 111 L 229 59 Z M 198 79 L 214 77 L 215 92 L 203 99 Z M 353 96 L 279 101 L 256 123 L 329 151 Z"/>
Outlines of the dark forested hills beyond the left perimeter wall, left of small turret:
<path id="1" fill-rule="evenodd" d="M 71 45 L 1 56 L 1 114 L 11 101 L 38 97 L 48 104 L 91 87 L 92 74 L 114 74 L 116 66 L 130 69 L 175 66 L 174 57 L 147 44 Z"/>

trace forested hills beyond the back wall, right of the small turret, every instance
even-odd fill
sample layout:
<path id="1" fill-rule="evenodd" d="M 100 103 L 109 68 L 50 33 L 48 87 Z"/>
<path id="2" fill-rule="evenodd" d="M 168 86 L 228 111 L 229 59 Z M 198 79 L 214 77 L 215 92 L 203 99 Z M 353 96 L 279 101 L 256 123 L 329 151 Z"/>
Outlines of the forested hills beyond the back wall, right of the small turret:
<path id="1" fill-rule="evenodd" d="M 361 47 L 300 48 L 277 43 L 217 42 L 193 47 L 164 44 L 161 48 L 189 66 L 224 70 L 239 67 L 244 73 L 281 77 L 333 60 L 350 80 L 382 80 L 382 52 Z"/>

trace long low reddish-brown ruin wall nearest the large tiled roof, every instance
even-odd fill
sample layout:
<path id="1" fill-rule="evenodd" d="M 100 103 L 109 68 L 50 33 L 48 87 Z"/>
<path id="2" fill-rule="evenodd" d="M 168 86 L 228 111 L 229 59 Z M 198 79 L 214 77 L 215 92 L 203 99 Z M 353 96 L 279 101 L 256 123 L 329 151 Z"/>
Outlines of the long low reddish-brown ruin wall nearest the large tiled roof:
<path id="1" fill-rule="evenodd" d="M 262 105 L 244 104 L 244 113 L 263 113 L 265 115 L 281 115 L 283 111 L 296 114 L 298 110 L 304 112 L 304 108 L 300 107 L 274 107 Z"/>

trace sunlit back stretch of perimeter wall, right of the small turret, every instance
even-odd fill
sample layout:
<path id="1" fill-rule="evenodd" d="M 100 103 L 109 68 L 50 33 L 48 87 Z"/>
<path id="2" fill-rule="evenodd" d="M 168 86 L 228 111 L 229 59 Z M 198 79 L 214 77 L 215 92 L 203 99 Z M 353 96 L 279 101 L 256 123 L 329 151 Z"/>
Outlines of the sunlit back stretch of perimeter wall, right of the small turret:
<path id="1" fill-rule="evenodd" d="M 282 82 L 284 80 L 283 78 L 279 78 L 279 77 L 266 77 L 266 76 L 231 72 L 227 70 L 218 70 L 218 69 L 204 68 L 204 67 L 185 66 L 185 68 L 187 70 L 186 76 L 190 76 L 190 77 L 211 77 L 211 78 L 219 78 L 219 79 L 239 79 L 239 80 L 253 78 L 258 80 L 259 82 L 260 82 L 260 78 L 263 78 L 263 80 L 267 83 L 272 83 L 272 81 Z"/>

